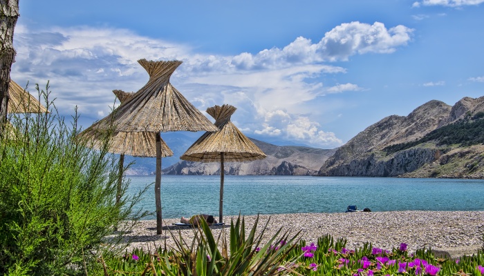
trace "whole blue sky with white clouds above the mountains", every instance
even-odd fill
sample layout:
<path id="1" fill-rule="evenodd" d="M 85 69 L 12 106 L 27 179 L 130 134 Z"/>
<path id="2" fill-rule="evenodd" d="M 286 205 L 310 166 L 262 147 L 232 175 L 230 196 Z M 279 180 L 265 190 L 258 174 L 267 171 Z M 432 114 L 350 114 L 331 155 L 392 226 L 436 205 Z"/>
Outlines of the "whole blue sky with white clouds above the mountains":
<path id="1" fill-rule="evenodd" d="M 20 0 L 11 77 L 45 86 L 84 128 L 138 59 L 182 60 L 171 83 L 199 110 L 274 144 L 335 148 L 389 115 L 484 94 L 484 0 Z M 206 115 L 206 113 L 205 113 Z M 210 117 L 207 115 L 207 117 Z M 197 136 L 201 133 L 197 133 Z"/>

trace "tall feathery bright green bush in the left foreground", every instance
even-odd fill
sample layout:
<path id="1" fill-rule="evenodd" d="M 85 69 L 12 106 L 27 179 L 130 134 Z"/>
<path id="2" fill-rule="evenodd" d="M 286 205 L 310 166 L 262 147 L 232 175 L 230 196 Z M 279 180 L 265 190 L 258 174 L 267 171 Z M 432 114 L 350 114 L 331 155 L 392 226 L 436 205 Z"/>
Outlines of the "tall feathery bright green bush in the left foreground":
<path id="1" fill-rule="evenodd" d="M 0 275 L 76 275 L 95 265 L 113 225 L 131 214 L 140 195 L 115 205 L 118 165 L 107 152 L 77 139 L 77 114 L 68 126 L 37 86 L 48 114 L 10 116 L 0 139 Z M 122 193 L 129 183 L 124 181 Z M 129 227 L 129 226 L 127 226 Z"/>

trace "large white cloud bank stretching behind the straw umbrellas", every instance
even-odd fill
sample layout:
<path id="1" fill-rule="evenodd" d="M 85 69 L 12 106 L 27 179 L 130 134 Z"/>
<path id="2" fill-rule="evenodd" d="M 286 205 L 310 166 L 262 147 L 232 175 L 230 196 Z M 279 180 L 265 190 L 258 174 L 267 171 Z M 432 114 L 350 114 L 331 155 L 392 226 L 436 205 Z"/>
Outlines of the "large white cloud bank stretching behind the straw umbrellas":
<path id="1" fill-rule="evenodd" d="M 325 132 L 311 117 L 307 103 L 328 93 L 362 90 L 355 83 L 325 86 L 323 75 L 344 74 L 332 61 L 373 52 L 388 54 L 411 41 L 413 30 L 383 23 L 342 23 L 313 42 L 297 37 L 281 48 L 256 54 L 206 55 L 189 46 L 153 39 L 130 30 L 71 27 L 32 32 L 18 25 L 12 79 L 50 89 L 60 112 L 100 119 L 111 112 L 114 89 L 128 92 L 144 86 L 149 77 L 138 59 L 183 61 L 171 83 L 205 110 L 230 103 L 237 110 L 239 128 L 259 135 L 280 136 L 318 146 L 339 146 L 342 141 Z M 32 85 L 31 85 L 32 86 Z M 305 115 L 300 115 L 301 110 Z M 316 112 L 317 111 L 317 112 Z"/>

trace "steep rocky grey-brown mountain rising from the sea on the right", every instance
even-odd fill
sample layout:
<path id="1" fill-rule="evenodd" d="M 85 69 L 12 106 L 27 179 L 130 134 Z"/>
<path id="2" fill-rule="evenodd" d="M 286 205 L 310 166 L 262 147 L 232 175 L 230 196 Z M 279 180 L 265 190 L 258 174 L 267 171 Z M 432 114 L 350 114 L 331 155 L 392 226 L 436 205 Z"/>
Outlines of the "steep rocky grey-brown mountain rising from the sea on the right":
<path id="1" fill-rule="evenodd" d="M 319 176 L 484 178 L 484 97 L 429 101 L 337 148 Z"/>

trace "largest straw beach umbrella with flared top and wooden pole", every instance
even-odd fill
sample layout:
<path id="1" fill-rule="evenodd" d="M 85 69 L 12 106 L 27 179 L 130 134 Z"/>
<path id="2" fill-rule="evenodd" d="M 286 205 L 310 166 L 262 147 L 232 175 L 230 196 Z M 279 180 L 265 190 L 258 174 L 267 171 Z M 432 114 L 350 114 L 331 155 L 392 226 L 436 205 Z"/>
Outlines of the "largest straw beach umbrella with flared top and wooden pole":
<path id="1" fill-rule="evenodd" d="M 92 127 L 106 128 L 112 120 L 116 130 L 120 132 L 156 133 L 156 233 L 160 235 L 162 227 L 160 131 L 216 131 L 218 128 L 169 83 L 171 74 L 182 61 L 140 59 L 138 63 L 147 70 L 148 83 L 116 108 L 111 118 L 102 119 Z"/>

